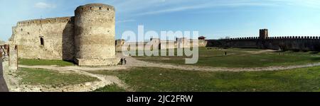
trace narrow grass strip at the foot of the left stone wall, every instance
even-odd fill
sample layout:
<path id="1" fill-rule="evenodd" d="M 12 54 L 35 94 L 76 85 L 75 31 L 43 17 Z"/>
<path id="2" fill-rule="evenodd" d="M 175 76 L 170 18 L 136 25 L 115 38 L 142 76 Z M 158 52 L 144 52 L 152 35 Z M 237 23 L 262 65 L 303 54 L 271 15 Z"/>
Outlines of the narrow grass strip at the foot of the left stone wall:
<path id="1" fill-rule="evenodd" d="M 73 66 L 73 62 L 63 60 L 43 60 L 43 59 L 18 59 L 18 64 L 37 66 L 37 65 L 57 65 L 57 66 Z"/>

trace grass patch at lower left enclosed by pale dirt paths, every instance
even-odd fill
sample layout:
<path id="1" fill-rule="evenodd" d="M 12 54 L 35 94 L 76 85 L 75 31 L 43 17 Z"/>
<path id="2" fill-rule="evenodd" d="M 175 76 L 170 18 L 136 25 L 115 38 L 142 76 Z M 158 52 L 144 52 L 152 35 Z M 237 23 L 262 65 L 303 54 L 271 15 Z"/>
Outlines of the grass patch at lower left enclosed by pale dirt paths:
<path id="1" fill-rule="evenodd" d="M 27 68 L 19 68 L 18 76 L 21 76 L 23 83 L 50 86 L 67 86 L 99 80 L 94 77 L 77 73 L 59 73 L 58 71 L 50 71 L 47 69 Z"/>

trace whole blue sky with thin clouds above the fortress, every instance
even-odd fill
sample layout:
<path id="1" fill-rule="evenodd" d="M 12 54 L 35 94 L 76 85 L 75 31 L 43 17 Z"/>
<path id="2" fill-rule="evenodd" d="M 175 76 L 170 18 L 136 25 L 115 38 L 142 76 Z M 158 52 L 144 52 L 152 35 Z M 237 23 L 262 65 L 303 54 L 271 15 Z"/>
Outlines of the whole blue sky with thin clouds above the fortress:
<path id="1" fill-rule="evenodd" d="M 11 37 L 19 20 L 74 16 L 91 3 L 116 8 L 116 37 L 125 30 L 190 30 L 208 39 L 258 36 L 320 35 L 318 0 L 0 0 L 0 39 Z"/>

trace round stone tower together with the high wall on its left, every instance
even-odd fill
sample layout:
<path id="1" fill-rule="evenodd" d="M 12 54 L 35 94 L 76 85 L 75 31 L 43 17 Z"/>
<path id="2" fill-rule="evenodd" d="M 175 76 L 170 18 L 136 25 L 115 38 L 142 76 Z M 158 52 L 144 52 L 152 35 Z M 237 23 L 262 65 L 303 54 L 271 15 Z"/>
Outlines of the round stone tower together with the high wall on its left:
<path id="1" fill-rule="evenodd" d="M 87 4 L 75 16 L 25 20 L 13 27 L 10 45 L 23 59 L 75 61 L 79 66 L 116 65 L 115 10 L 105 4 Z"/>

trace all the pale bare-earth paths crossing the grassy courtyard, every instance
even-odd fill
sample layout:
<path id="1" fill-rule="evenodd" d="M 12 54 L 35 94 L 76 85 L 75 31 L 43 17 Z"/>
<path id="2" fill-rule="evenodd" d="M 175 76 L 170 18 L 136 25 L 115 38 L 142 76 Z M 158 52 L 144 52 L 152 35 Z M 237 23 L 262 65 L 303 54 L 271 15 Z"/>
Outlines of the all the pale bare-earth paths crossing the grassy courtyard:
<path id="1" fill-rule="evenodd" d="M 272 52 L 270 50 L 263 50 L 260 52 L 250 52 L 252 54 L 260 54 L 262 52 Z M 126 65 L 118 65 L 118 66 L 99 66 L 99 67 L 90 67 L 90 66 L 25 66 L 19 65 L 21 68 L 34 68 L 34 69 L 50 69 L 59 71 L 61 73 L 78 73 L 86 76 L 92 76 L 100 79 L 100 81 L 90 82 L 90 83 L 82 83 L 73 86 L 63 86 L 59 88 L 52 88 L 50 86 L 30 86 L 30 85 L 22 85 L 17 83 L 21 79 L 15 78 L 14 73 L 9 75 L 11 81 L 14 83 L 10 83 L 11 91 L 18 92 L 52 92 L 52 91 L 62 91 L 62 92 L 74 92 L 74 91 L 92 91 L 97 88 L 102 88 L 104 86 L 110 84 L 117 84 L 117 86 L 124 88 L 128 91 L 133 91 L 129 89 L 123 81 L 121 81 L 117 76 L 103 76 L 100 74 L 89 73 L 90 71 L 103 71 L 103 70 L 121 70 L 121 69 L 130 69 L 132 67 L 140 66 L 140 67 L 160 67 L 166 69 L 181 69 L 186 71 L 278 71 L 285 69 L 297 69 L 304 68 L 310 66 L 320 66 L 320 63 L 316 64 L 304 64 L 304 65 L 296 65 L 296 66 L 269 66 L 269 67 L 257 67 L 257 68 L 225 68 L 225 67 L 211 67 L 211 66 L 191 66 L 191 65 L 172 65 L 172 64 L 155 64 L 147 61 L 140 61 L 134 59 L 133 57 L 124 57 L 121 53 L 117 54 L 118 57 L 126 58 Z"/>

